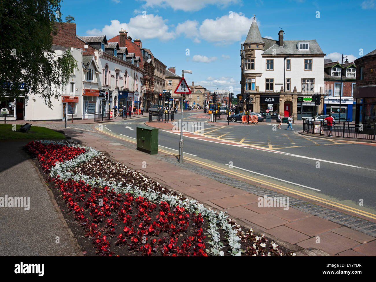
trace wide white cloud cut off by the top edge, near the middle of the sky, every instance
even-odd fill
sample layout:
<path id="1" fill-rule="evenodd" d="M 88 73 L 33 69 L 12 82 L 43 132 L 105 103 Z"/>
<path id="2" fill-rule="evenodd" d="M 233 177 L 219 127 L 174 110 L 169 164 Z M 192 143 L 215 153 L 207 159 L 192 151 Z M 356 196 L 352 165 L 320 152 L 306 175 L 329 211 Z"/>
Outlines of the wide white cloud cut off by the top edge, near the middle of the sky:
<path id="1" fill-rule="evenodd" d="M 230 4 L 238 3 L 238 0 L 190 0 L 190 1 L 179 1 L 179 0 L 139 0 L 146 2 L 144 7 L 154 7 L 154 6 L 170 6 L 174 10 L 183 10 L 185 12 L 199 11 L 200 9 L 208 5 L 217 5 L 221 7 L 226 7 Z"/>

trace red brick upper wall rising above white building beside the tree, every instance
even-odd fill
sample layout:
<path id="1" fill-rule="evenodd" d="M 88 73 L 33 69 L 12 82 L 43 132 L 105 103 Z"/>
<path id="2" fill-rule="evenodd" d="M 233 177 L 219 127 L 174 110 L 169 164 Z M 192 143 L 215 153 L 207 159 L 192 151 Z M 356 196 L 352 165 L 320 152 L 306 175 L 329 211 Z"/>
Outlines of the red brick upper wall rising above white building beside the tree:
<path id="1" fill-rule="evenodd" d="M 82 48 L 86 50 L 85 56 L 94 55 L 96 49 L 88 46 L 88 49 L 84 49 L 85 42 L 76 36 L 76 24 L 75 23 L 56 23 L 58 28 L 57 35 L 52 36 L 52 44 L 63 47 Z"/>

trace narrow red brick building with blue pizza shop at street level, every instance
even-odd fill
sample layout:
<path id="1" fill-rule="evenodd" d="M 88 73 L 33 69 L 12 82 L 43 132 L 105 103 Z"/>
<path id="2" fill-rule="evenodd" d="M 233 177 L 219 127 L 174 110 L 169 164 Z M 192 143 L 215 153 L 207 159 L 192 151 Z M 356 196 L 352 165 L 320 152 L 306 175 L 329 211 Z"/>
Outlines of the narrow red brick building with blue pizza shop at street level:
<path id="1" fill-rule="evenodd" d="M 355 119 L 355 104 L 353 92 L 356 82 L 356 65 L 346 61 L 342 66 L 340 62 L 325 59 L 324 63 L 324 115 L 329 113 L 338 120 Z M 342 86 L 341 86 L 342 80 Z M 341 98 L 341 99 L 340 99 Z"/>

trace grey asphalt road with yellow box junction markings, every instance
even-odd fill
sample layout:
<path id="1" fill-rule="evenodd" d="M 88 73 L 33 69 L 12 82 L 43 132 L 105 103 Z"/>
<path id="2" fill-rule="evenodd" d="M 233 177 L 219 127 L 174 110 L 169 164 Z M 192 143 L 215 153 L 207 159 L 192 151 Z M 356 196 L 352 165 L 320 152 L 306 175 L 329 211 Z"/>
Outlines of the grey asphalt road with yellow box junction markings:
<path id="1" fill-rule="evenodd" d="M 296 132 L 302 125 L 293 125 L 295 131 L 285 130 L 286 125 L 276 129 L 272 124 L 212 127 L 207 119 L 192 118 L 194 114 L 197 112 L 184 114 L 184 121 L 194 122 L 190 131 L 197 133 L 197 137 L 184 137 L 187 159 L 376 214 L 376 144 L 307 138 Z M 105 130 L 136 138 L 137 125 L 145 121 L 147 118 L 107 124 Z M 160 149 L 176 154 L 179 139 L 179 132 L 159 130 Z"/>

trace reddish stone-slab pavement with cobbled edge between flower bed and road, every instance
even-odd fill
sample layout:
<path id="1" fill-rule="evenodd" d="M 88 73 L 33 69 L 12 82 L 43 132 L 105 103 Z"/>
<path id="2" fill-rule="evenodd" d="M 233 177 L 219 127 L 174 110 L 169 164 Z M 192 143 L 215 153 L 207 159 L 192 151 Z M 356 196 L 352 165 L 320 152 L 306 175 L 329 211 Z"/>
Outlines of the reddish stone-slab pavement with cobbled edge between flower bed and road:
<path id="1" fill-rule="evenodd" d="M 162 185 L 215 210 L 227 211 L 241 224 L 268 234 L 278 244 L 294 250 L 298 255 L 326 255 L 318 251 L 322 250 L 329 255 L 376 256 L 376 223 L 369 220 L 293 197 L 290 197 L 288 210 L 283 207 L 261 208 L 258 207 L 259 196 L 282 194 L 205 166 L 189 162 L 180 165 L 175 155 L 149 155 L 137 151 L 135 143 L 102 133 L 66 129 L 65 134 L 83 145 L 108 152 L 114 160 Z M 142 167 L 143 161 L 146 161 L 147 168 Z M 339 224 L 343 222 L 352 228 Z"/>

